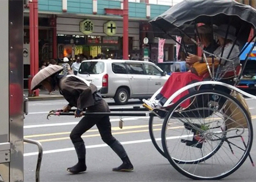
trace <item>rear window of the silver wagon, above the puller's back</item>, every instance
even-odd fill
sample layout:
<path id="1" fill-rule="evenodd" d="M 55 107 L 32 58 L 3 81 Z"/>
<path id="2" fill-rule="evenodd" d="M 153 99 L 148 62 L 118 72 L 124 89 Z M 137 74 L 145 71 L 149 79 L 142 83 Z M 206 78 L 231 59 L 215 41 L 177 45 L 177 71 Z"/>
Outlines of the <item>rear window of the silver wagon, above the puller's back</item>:
<path id="1" fill-rule="evenodd" d="M 79 68 L 80 74 L 100 74 L 104 71 L 103 62 L 83 62 Z"/>

